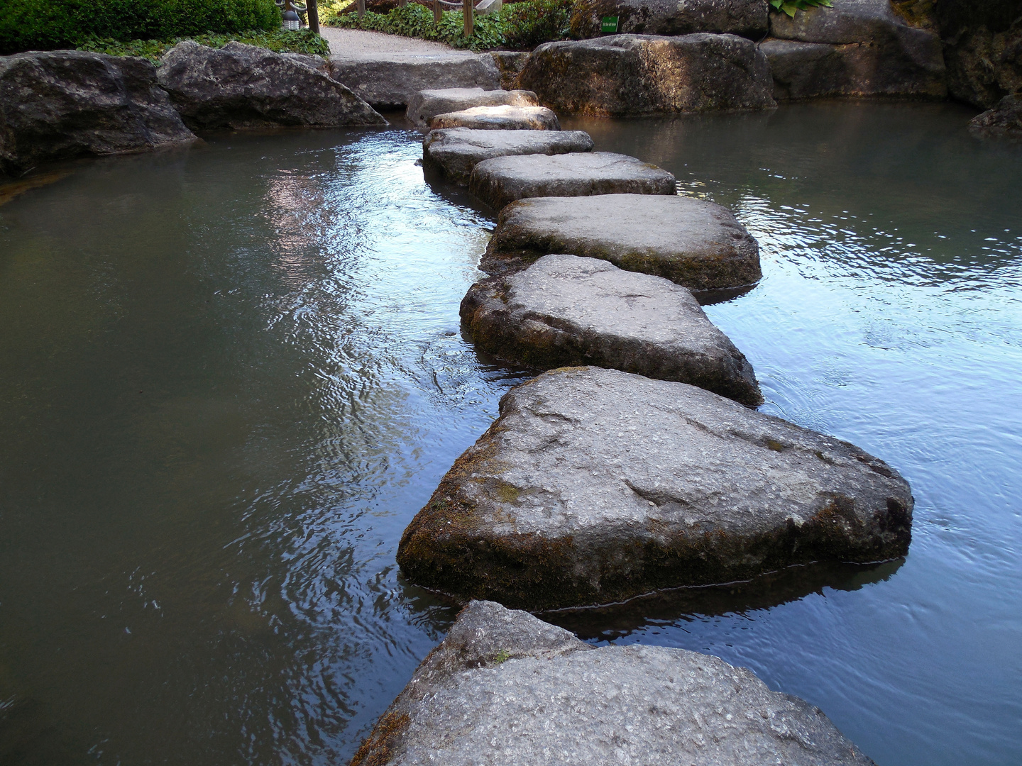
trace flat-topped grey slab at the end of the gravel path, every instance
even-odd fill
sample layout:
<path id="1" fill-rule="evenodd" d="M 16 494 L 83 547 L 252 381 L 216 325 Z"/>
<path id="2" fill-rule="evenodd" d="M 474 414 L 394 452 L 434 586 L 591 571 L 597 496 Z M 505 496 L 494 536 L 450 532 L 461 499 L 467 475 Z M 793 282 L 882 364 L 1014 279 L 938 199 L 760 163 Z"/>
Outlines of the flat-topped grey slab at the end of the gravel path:
<path id="1" fill-rule="evenodd" d="M 404 108 L 424 90 L 501 87 L 493 56 L 467 51 L 330 56 L 330 76 L 377 109 Z"/>

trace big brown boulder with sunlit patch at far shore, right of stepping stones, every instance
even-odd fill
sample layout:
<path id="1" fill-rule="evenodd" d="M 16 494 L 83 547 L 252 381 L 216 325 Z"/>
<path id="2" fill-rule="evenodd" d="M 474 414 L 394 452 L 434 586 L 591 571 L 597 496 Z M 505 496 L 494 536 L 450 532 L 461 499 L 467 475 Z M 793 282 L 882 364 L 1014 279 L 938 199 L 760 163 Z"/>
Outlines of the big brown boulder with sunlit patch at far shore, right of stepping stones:
<path id="1" fill-rule="evenodd" d="M 773 108 L 770 64 L 735 35 L 545 43 L 518 78 L 558 112 L 595 116 Z"/>

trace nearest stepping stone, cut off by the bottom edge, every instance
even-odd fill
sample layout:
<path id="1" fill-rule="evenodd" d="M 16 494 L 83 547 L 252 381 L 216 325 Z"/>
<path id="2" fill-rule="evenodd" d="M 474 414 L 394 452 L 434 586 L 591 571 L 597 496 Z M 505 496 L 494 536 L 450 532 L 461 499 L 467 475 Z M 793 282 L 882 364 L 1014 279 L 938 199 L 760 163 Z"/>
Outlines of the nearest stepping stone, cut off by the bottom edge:
<path id="1" fill-rule="evenodd" d="M 666 647 L 593 647 L 471 602 L 353 763 L 876 766 L 819 708 L 747 668 Z"/>

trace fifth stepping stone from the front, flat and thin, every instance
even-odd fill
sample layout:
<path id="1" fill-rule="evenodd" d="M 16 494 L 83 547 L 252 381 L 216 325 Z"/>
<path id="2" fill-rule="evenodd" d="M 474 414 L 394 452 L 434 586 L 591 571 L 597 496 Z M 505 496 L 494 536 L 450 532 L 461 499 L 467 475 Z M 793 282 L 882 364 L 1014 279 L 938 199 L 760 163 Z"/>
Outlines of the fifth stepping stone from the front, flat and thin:
<path id="1" fill-rule="evenodd" d="M 626 154 L 526 154 L 479 162 L 469 190 L 494 209 L 523 197 L 588 197 L 596 194 L 675 194 L 675 177 Z M 617 214 L 600 222 L 607 227 Z M 544 253 L 546 254 L 546 253 Z"/>

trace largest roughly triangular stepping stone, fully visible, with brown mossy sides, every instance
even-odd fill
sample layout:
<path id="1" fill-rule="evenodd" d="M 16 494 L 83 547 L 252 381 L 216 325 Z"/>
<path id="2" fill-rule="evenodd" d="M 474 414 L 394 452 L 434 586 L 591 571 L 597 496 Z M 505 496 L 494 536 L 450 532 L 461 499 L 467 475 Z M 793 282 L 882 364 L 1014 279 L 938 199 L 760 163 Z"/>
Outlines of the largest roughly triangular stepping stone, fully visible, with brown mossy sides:
<path id="1" fill-rule="evenodd" d="M 500 412 L 405 530 L 412 582 L 538 611 L 909 549 L 885 463 L 701 388 L 561 368 Z"/>

